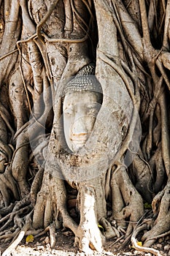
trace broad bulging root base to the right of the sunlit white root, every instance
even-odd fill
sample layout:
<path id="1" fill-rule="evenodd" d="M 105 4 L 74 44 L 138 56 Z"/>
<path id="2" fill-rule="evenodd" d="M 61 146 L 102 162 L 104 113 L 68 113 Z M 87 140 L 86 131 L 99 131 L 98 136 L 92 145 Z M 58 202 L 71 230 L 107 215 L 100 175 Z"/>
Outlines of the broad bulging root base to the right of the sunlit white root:
<path id="1" fill-rule="evenodd" d="M 130 235 L 136 223 L 144 214 L 142 197 L 131 183 L 124 167 L 112 174 L 112 219 L 119 227 L 126 228 L 126 236 Z"/>

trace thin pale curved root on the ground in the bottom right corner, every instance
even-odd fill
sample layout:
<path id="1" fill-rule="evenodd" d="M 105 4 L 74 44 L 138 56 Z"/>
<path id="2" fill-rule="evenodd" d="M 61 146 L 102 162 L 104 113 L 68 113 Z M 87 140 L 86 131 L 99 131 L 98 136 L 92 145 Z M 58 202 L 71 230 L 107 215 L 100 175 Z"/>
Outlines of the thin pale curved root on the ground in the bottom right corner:
<path id="1" fill-rule="evenodd" d="M 162 256 L 161 253 L 158 250 L 156 250 L 156 249 L 153 249 L 153 248 L 150 248 L 150 247 L 139 246 L 137 244 L 137 242 L 136 242 L 137 234 L 140 231 L 144 230 L 146 227 L 147 227 L 147 224 L 144 223 L 143 225 L 141 225 L 140 227 L 137 227 L 134 230 L 134 232 L 133 232 L 133 234 L 131 236 L 131 244 L 132 244 L 132 246 L 134 247 L 134 249 L 136 249 L 139 252 L 150 252 L 150 253 L 152 253 L 152 255 Z"/>

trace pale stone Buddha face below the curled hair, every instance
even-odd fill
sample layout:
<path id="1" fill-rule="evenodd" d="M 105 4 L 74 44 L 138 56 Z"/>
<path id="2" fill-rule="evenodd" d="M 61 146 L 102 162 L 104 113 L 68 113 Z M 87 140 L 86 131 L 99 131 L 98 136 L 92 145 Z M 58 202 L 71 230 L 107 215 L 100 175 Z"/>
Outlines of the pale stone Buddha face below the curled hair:
<path id="1" fill-rule="evenodd" d="M 93 91 L 69 92 L 64 97 L 63 129 L 71 151 L 79 151 L 88 140 L 101 108 L 99 98 Z"/>

